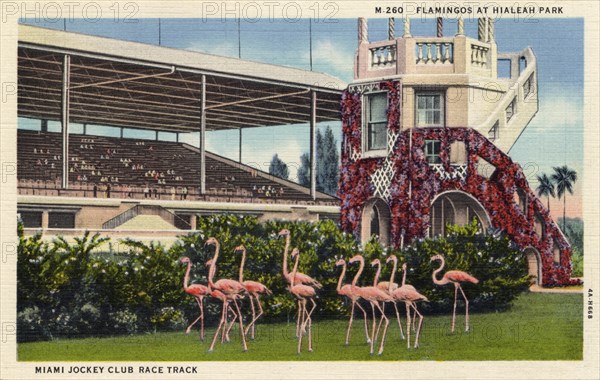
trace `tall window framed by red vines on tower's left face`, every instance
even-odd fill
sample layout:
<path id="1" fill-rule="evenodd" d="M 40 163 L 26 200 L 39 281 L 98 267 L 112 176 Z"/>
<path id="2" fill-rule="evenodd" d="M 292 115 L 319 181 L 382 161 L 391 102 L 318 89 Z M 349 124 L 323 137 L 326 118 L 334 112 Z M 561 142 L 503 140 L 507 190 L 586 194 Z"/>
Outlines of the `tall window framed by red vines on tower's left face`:
<path id="1" fill-rule="evenodd" d="M 365 150 L 387 148 L 387 92 L 367 94 L 365 101 Z"/>

